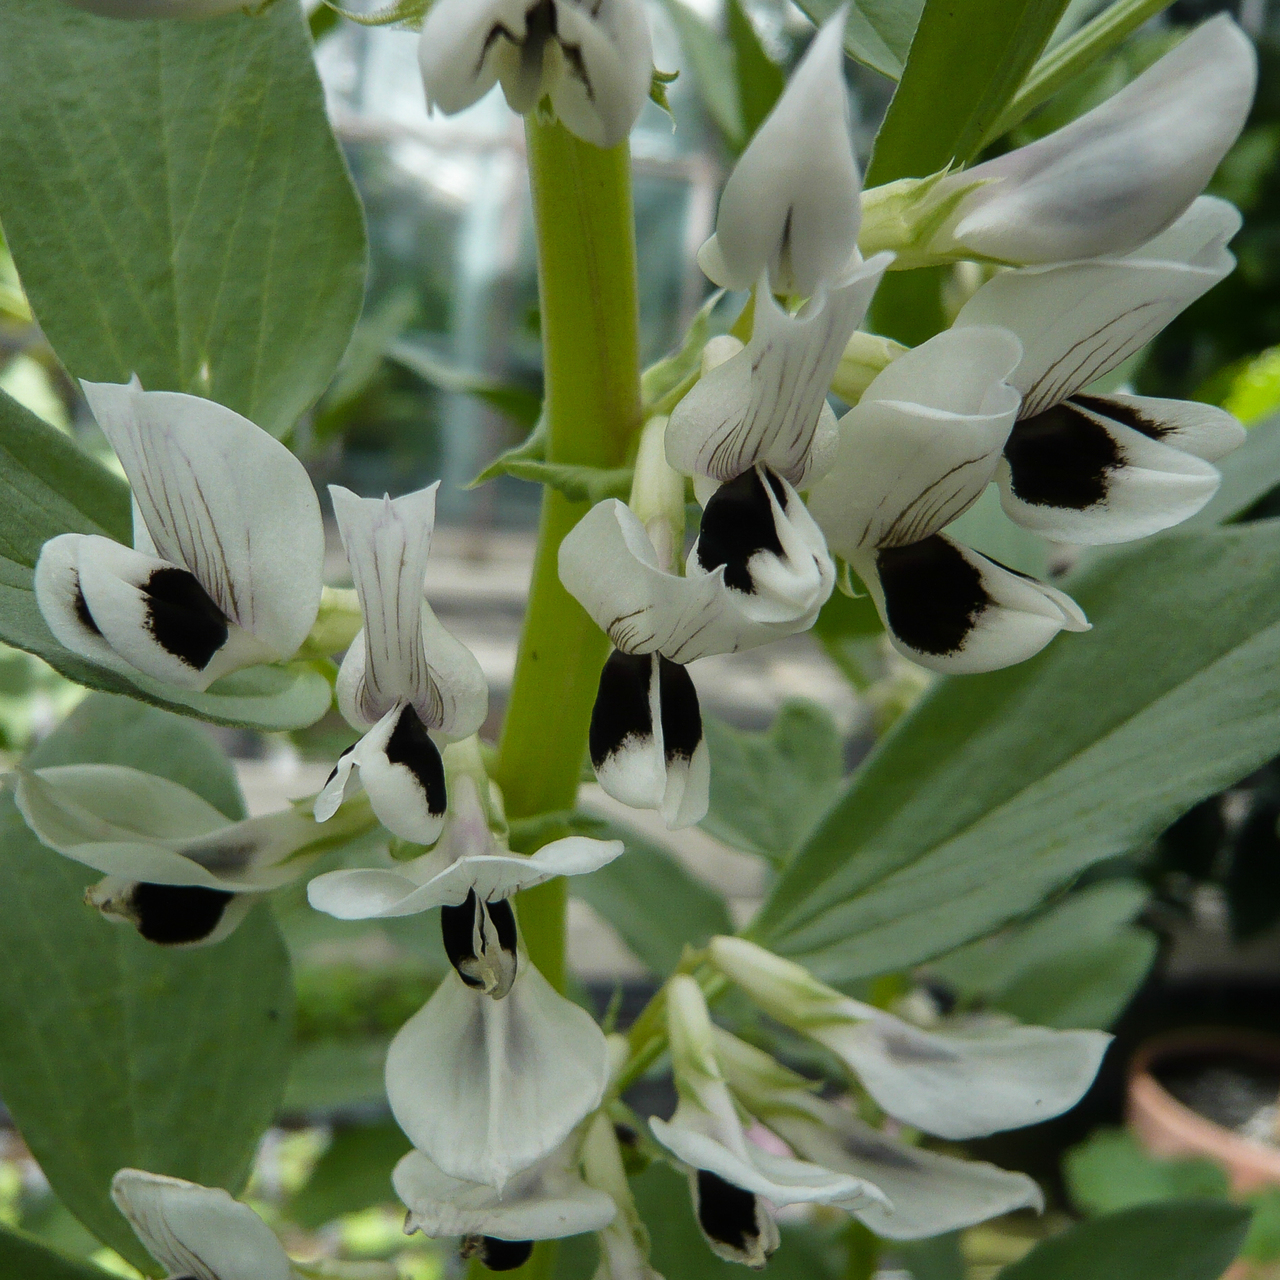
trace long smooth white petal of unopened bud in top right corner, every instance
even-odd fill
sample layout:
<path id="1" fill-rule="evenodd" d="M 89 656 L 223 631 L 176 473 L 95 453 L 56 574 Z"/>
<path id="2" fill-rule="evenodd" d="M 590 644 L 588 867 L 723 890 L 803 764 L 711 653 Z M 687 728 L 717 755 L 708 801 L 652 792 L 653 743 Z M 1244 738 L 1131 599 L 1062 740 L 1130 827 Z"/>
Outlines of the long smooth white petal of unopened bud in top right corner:
<path id="1" fill-rule="evenodd" d="M 1225 14 L 1211 19 L 1101 106 L 945 179 L 988 179 L 961 202 L 955 239 L 1007 262 L 1137 247 L 1204 189 L 1256 82 L 1253 44 Z"/>

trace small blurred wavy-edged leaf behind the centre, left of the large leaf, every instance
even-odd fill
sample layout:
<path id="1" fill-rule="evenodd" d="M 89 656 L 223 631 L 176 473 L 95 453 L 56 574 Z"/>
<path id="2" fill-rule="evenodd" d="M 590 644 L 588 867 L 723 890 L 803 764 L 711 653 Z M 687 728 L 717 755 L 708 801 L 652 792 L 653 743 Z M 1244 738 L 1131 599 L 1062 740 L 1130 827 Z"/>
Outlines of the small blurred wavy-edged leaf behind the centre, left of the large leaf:
<path id="1" fill-rule="evenodd" d="M 703 732 L 712 756 L 703 831 L 786 863 L 841 790 L 844 744 L 831 717 L 817 703 L 788 701 L 764 733 L 712 717 Z"/>

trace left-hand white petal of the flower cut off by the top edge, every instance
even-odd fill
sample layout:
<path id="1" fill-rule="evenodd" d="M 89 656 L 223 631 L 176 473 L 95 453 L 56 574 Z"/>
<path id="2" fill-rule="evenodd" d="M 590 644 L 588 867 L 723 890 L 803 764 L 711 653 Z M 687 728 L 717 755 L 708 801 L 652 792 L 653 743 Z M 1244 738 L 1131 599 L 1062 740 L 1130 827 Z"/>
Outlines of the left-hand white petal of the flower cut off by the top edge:
<path id="1" fill-rule="evenodd" d="M 453 115 L 493 88 L 499 69 L 518 61 L 520 50 L 512 41 L 524 40 L 525 8 L 524 0 L 439 0 L 431 5 L 417 44 L 428 106 Z M 503 37 L 503 31 L 511 38 Z"/>

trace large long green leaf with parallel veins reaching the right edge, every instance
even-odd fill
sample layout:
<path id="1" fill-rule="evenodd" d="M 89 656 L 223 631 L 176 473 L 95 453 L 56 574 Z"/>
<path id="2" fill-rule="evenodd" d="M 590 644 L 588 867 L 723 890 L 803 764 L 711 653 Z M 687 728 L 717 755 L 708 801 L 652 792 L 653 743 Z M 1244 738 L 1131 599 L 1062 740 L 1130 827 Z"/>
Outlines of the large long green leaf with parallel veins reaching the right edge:
<path id="1" fill-rule="evenodd" d="M 1112 553 L 1093 622 L 946 680 L 781 876 L 753 933 L 844 982 L 1030 911 L 1280 750 L 1280 524 Z"/>

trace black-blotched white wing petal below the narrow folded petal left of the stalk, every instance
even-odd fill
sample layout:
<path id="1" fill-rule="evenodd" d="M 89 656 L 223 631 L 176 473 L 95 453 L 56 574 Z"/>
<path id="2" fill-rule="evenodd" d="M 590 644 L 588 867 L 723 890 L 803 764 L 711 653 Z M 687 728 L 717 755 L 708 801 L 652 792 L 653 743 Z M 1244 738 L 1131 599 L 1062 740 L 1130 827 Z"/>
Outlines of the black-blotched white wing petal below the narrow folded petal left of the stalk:
<path id="1" fill-rule="evenodd" d="M 444 764 L 412 707 L 393 707 L 351 749 L 351 763 L 378 820 L 392 835 L 419 845 L 439 840 L 447 803 Z"/>

